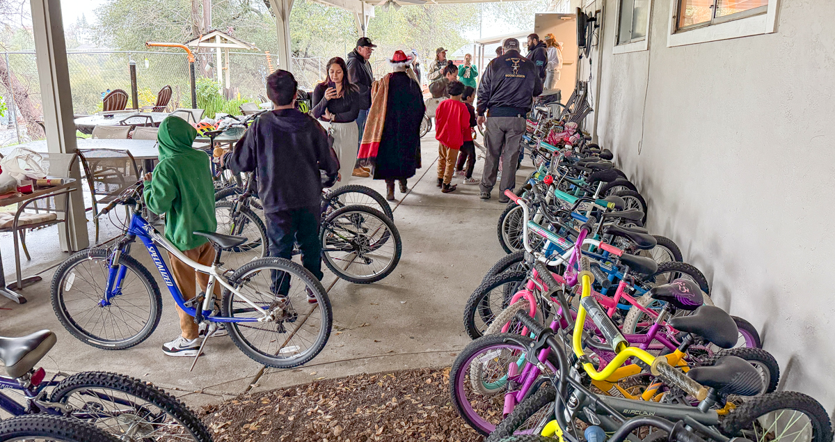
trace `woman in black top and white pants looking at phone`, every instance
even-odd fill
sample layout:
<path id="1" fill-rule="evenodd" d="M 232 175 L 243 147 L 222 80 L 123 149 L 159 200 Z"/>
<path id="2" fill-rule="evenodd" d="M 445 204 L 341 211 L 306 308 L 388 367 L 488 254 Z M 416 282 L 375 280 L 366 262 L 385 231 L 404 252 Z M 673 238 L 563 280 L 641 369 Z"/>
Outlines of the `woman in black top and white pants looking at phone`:
<path id="1" fill-rule="evenodd" d="M 333 136 L 333 150 L 339 159 L 340 178 L 332 189 L 347 185 L 357 162 L 357 115 L 360 112 L 359 89 L 348 82 L 345 60 L 334 57 L 327 62 L 327 78 L 313 89 L 312 114 L 324 122 Z"/>

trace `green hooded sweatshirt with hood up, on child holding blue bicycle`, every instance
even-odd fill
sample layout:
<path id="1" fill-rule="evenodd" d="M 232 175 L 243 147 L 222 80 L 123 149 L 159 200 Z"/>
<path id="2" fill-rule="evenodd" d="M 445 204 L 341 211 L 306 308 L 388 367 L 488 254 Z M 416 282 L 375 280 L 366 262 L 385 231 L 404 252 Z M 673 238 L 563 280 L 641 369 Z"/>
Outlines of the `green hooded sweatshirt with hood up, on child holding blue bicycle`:
<path id="1" fill-rule="evenodd" d="M 159 164 L 153 179 L 145 181 L 145 204 L 165 214 L 165 237 L 181 251 L 202 246 L 203 236 L 193 231 L 215 231 L 215 186 L 209 155 L 191 147 L 197 130 L 179 117 L 159 124 Z"/>

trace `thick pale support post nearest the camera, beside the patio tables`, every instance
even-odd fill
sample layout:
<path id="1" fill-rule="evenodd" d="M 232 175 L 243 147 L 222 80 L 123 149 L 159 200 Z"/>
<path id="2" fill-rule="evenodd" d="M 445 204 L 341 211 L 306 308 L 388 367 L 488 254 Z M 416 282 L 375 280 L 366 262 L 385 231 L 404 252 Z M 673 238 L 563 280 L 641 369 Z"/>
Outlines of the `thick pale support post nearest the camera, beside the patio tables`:
<path id="1" fill-rule="evenodd" d="M 76 150 L 75 121 L 67 68 L 67 47 L 63 39 L 61 2 L 60 0 L 30 0 L 30 3 L 48 152 L 50 155 L 57 154 L 56 156 L 73 154 Z M 58 236 L 62 250 L 78 251 L 89 246 L 78 163 L 73 165 L 69 178 L 76 180 L 76 189 L 78 189 L 70 194 L 68 208 L 70 237 L 67 238 L 64 235 L 63 229 L 58 229 Z"/>

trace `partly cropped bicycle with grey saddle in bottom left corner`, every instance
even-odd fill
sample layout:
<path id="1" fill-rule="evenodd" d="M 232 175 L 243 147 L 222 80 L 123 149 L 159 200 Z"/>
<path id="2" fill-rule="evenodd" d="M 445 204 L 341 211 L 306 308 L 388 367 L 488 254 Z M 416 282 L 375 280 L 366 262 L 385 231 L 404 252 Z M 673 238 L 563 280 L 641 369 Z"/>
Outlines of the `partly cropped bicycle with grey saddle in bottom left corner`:
<path id="1" fill-rule="evenodd" d="M 81 420 L 118 440 L 211 442 L 209 430 L 194 412 L 143 380 L 103 372 L 72 376 L 56 373 L 47 379 L 43 368 L 35 366 L 56 342 L 55 333 L 49 330 L 20 338 L 0 337 L 0 363 L 8 373 L 0 376 L 0 410 L 19 416 L 18 429 L 38 429 L 48 440 L 103 440 L 93 437 L 95 429 L 85 429 L 80 422 L 73 424 Z M 73 420 L 33 420 L 26 416 L 66 416 Z"/>

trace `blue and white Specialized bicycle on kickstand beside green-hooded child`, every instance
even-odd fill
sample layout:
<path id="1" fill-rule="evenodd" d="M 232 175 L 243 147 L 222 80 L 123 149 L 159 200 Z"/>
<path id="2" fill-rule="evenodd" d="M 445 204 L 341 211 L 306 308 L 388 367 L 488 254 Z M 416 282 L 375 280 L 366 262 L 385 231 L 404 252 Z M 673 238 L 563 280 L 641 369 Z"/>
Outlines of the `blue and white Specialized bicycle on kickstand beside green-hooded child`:
<path id="1" fill-rule="evenodd" d="M 211 266 L 194 262 L 145 221 L 142 191 L 143 183 L 137 182 L 99 213 L 103 216 L 119 205 L 128 208 L 129 223 L 123 224 L 124 234 L 114 246 L 79 251 L 55 272 L 53 310 L 69 333 L 94 347 L 114 350 L 133 347 L 154 333 L 162 296 L 148 269 L 130 256 L 131 245 L 139 238 L 177 305 L 195 323 L 222 324 L 240 351 L 256 362 L 296 367 L 325 347 L 331 333 L 331 302 L 311 272 L 276 257 L 226 269 L 221 252 L 247 239 L 205 231 L 195 235 L 205 236 L 215 247 L 215 261 Z M 206 292 L 186 301 L 157 246 L 209 275 Z M 205 333 L 201 350 L 211 334 Z"/>

